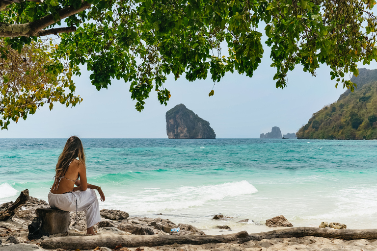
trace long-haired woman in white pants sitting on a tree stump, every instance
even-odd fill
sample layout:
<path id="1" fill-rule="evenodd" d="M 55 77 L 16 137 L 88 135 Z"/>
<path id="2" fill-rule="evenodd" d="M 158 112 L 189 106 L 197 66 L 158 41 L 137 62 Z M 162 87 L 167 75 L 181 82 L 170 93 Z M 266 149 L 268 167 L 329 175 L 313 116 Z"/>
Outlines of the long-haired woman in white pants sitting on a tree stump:
<path id="1" fill-rule="evenodd" d="M 100 194 L 101 201 L 105 201 L 105 195 L 100 186 L 86 181 L 85 153 L 78 137 L 72 136 L 67 140 L 55 171 L 54 184 L 48 195 L 50 206 L 64 211 L 84 211 L 86 234 L 94 235 L 93 226 L 101 221 L 94 190 Z"/>

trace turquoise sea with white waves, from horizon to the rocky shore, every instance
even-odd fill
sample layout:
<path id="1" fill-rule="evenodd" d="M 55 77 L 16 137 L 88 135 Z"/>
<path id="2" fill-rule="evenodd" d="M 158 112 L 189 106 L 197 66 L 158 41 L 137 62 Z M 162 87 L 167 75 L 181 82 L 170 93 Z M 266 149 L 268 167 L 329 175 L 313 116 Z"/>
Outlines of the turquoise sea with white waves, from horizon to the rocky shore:
<path id="1" fill-rule="evenodd" d="M 47 200 L 66 139 L 0 139 L 0 204 L 28 188 Z M 101 208 L 223 234 L 284 215 L 294 226 L 377 228 L 377 141 L 82 139 Z M 234 217 L 215 221 L 221 213 Z M 162 214 L 162 215 L 159 215 Z M 237 223 L 249 219 L 247 224 Z M 251 222 L 251 220 L 254 221 Z"/>

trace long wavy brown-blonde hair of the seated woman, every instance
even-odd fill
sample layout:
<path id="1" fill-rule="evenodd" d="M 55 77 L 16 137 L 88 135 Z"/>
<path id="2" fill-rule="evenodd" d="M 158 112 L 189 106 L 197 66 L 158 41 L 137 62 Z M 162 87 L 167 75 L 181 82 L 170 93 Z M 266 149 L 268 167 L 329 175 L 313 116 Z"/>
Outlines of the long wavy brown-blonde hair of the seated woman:
<path id="1" fill-rule="evenodd" d="M 67 143 L 65 143 L 64 149 L 57 161 L 55 169 L 56 177 L 64 176 L 69 167 L 69 163 L 77 157 L 79 157 L 79 163 L 85 165 L 85 152 L 81 140 L 77 136 L 72 136 L 67 140 Z"/>

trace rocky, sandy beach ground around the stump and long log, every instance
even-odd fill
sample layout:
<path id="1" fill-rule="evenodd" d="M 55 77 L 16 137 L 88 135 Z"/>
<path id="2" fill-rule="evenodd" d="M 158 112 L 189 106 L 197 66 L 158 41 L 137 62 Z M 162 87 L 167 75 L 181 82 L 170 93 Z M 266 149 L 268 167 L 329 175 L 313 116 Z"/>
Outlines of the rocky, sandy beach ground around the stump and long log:
<path id="1" fill-rule="evenodd" d="M 29 201 L 25 206 L 16 213 L 16 215 L 7 221 L 0 222 L 0 251 L 36 251 L 36 250 L 46 250 L 39 248 L 39 245 L 42 239 L 58 237 L 58 236 L 85 236 L 86 232 L 86 221 L 83 212 L 79 212 L 76 215 L 76 212 L 71 212 L 71 226 L 69 231 L 66 234 L 55 234 L 50 237 L 42 237 L 38 240 L 27 240 L 27 226 L 31 223 L 35 215 L 35 208 L 38 207 L 48 207 L 46 201 L 38 200 L 36 198 L 30 197 Z M 162 219 L 162 218 L 147 218 L 147 217 L 128 217 L 128 214 L 122 212 L 122 214 L 127 214 L 127 217 L 124 216 L 120 220 L 111 220 L 109 218 L 118 214 L 119 210 L 102 210 L 101 212 L 101 222 L 95 225 L 95 230 L 97 235 L 104 233 L 113 233 L 120 235 L 132 235 L 131 232 L 138 232 L 142 234 L 142 231 L 152 231 L 148 234 L 161 234 L 169 235 L 168 231 L 173 226 L 180 226 L 182 231 L 177 233 L 179 235 L 205 235 L 203 231 L 196 228 L 195 226 L 190 226 L 186 224 L 175 225 L 173 222 Z M 224 221 L 219 222 L 219 225 L 223 225 Z M 153 227 L 151 227 L 153 226 Z M 280 227 L 281 228 L 281 227 Z M 279 229 L 276 227 L 271 227 L 271 230 Z M 126 231 L 127 230 L 127 231 Z M 342 230 L 337 230 L 342 231 Z M 234 231 L 233 231 L 234 232 Z M 222 232 L 223 234 L 230 233 L 229 231 Z M 144 232 L 145 234 L 145 232 Z M 249 233 L 250 234 L 250 233 Z M 9 243 L 7 239 L 9 236 L 14 236 L 20 242 L 18 244 Z M 123 249 L 123 250 L 122 250 Z M 117 249 L 119 251 L 273 251 L 273 250 L 287 250 L 287 251 L 296 251 L 296 250 L 377 250 L 377 240 L 340 240 L 340 239 L 328 239 L 322 237 L 314 236 L 305 236 L 301 238 L 273 238 L 273 239 L 264 239 L 261 241 L 248 241 L 242 244 L 202 244 L 202 245 L 165 245 L 165 246 L 156 246 L 156 247 L 135 247 L 135 248 L 122 248 Z M 90 249 L 92 251 L 93 249 Z M 109 251 L 111 249 L 106 249 L 99 247 L 98 250 Z M 65 251 L 65 249 L 47 249 L 47 251 Z M 82 250 L 81 250 L 82 251 Z"/>

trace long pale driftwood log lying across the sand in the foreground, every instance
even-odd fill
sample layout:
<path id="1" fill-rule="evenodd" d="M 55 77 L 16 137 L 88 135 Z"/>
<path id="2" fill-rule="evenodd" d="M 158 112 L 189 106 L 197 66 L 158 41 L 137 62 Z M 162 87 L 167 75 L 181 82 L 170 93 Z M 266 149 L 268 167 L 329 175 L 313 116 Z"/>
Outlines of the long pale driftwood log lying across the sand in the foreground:
<path id="1" fill-rule="evenodd" d="M 248 234 L 246 231 L 226 235 L 115 235 L 103 234 L 95 236 L 54 237 L 41 242 L 44 249 L 80 249 L 88 250 L 96 247 L 108 247 L 114 249 L 122 247 L 153 247 L 162 245 L 191 244 L 201 245 L 208 243 L 244 243 L 251 240 L 263 240 L 272 238 L 290 238 L 316 236 L 323 238 L 336 238 L 344 240 L 353 239 L 377 239 L 377 229 L 329 229 L 319 227 L 290 227 L 269 232 Z"/>

